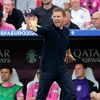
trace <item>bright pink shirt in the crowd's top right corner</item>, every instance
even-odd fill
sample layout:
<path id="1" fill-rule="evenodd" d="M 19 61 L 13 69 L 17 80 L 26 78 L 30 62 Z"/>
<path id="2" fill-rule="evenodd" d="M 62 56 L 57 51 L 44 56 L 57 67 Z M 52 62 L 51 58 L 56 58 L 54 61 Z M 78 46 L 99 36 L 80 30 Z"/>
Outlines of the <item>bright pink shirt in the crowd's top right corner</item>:
<path id="1" fill-rule="evenodd" d="M 80 0 L 81 7 L 88 9 L 90 15 L 92 15 L 96 11 L 100 11 L 100 0 L 91 0 L 91 8 L 89 8 L 88 1 L 89 0 Z"/>

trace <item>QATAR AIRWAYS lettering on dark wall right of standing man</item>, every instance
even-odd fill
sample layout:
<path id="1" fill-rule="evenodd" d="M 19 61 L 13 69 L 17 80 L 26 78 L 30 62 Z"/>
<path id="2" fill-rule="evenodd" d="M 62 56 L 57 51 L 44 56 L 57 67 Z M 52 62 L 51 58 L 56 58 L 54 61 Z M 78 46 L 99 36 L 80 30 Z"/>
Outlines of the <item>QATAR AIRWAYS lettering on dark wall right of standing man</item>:
<path id="1" fill-rule="evenodd" d="M 86 63 L 100 63 L 100 50 L 98 49 L 75 49 L 73 56 Z"/>

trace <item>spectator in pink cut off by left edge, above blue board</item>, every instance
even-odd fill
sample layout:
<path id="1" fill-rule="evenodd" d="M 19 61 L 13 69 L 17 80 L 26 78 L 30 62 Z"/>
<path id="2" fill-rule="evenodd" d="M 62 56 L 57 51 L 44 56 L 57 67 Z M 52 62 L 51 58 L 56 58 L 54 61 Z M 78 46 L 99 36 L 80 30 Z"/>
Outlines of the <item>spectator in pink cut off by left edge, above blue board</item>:
<path id="1" fill-rule="evenodd" d="M 12 24 L 8 24 L 3 21 L 3 12 L 0 10 L 0 30 L 15 30 Z"/>

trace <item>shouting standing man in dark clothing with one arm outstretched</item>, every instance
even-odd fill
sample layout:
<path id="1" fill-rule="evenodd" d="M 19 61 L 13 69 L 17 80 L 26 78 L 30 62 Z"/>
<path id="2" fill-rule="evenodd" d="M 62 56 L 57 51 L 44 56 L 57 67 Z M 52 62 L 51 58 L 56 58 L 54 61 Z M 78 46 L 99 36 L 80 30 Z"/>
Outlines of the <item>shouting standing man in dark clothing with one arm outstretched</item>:
<path id="1" fill-rule="evenodd" d="M 40 84 L 36 100 L 45 100 L 51 84 L 56 81 L 63 92 L 61 100 L 76 100 L 73 81 L 68 73 L 66 63 L 75 60 L 69 46 L 69 29 L 64 27 L 65 11 L 53 10 L 53 23 L 45 27 L 33 27 L 30 30 L 44 36 L 40 59 Z M 65 63 L 66 62 L 66 63 Z"/>

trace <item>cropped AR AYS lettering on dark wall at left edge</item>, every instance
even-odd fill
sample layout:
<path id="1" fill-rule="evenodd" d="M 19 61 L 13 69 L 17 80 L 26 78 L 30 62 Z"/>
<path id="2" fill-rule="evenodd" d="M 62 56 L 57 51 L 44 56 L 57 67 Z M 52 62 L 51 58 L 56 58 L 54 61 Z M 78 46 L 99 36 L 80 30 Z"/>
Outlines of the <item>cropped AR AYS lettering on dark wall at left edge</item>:
<path id="1" fill-rule="evenodd" d="M 0 50 L 0 63 L 10 63 L 10 51 L 8 49 Z"/>

